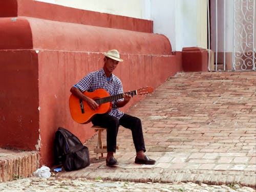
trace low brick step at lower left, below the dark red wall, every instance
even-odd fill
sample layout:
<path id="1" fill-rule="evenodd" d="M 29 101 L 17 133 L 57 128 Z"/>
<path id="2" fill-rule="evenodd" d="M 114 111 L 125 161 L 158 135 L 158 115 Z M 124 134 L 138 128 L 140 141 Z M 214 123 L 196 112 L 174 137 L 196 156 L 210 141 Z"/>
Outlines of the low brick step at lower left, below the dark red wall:
<path id="1" fill-rule="evenodd" d="M 0 148 L 0 182 L 31 177 L 38 168 L 39 153 Z"/>

